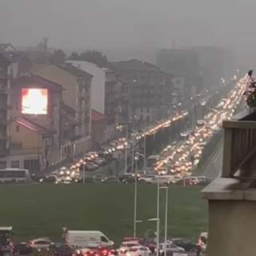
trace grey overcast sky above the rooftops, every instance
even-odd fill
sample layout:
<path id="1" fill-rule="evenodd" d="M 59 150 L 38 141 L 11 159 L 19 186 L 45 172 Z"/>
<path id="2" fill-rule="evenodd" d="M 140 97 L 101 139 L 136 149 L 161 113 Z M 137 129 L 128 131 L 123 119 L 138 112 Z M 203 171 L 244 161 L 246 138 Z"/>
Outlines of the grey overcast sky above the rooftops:
<path id="1" fill-rule="evenodd" d="M 0 41 L 61 48 L 256 48 L 253 0 L 0 0 Z M 252 26 L 252 27 L 250 27 Z"/>

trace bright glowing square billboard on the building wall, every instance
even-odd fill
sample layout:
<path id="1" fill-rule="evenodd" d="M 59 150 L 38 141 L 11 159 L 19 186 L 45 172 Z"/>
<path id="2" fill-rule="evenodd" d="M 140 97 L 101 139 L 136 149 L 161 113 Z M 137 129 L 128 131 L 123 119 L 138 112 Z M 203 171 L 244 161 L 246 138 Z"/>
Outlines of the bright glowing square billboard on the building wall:
<path id="1" fill-rule="evenodd" d="M 47 114 L 48 90 L 22 88 L 22 114 Z"/>

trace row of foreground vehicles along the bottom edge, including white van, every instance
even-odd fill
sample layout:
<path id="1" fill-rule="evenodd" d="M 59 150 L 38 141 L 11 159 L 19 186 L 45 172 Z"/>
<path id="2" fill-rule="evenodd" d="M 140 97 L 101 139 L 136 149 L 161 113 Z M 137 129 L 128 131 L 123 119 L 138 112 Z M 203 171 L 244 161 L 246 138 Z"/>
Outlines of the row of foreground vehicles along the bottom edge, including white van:
<path id="1" fill-rule="evenodd" d="M 12 227 L 0 226 L 1 244 L 5 245 L 1 247 L 1 252 L 4 255 L 27 255 L 42 251 L 53 256 L 149 256 L 156 253 L 156 242 L 152 235 L 150 238 L 122 238 L 122 242 L 117 246 L 98 230 L 63 228 L 63 231 L 61 242 L 54 242 L 50 238 L 34 238 L 28 242 L 14 243 Z M 207 235 L 201 234 L 198 239 L 206 243 Z M 196 250 L 198 250 L 197 243 L 183 238 L 172 238 L 166 243 L 160 242 L 158 247 L 160 256 L 164 256 L 165 251 L 168 255 L 172 255 Z"/>

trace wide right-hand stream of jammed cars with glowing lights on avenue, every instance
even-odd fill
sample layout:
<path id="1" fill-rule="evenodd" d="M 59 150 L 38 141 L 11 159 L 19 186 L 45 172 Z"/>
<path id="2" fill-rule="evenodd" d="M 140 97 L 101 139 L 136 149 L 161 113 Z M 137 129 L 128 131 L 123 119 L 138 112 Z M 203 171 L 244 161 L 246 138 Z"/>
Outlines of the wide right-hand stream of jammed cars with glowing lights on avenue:
<path id="1" fill-rule="evenodd" d="M 161 154 L 152 155 L 146 160 L 149 174 L 139 180 L 146 183 L 177 185 L 200 185 L 210 182 L 206 177 L 192 177 L 206 144 L 214 134 L 222 129 L 222 121 L 232 118 L 235 108 L 241 102 L 245 80 L 241 79 L 227 98 L 210 111 L 203 120 L 196 122 L 195 128 L 183 131 L 182 141 L 166 146 Z"/>

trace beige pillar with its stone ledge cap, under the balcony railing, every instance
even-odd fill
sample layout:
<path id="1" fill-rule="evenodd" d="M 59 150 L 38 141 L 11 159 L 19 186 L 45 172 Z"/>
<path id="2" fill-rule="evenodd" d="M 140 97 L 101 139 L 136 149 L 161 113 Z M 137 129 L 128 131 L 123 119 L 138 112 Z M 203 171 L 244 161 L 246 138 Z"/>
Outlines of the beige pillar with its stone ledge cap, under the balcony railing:
<path id="1" fill-rule="evenodd" d="M 256 186 L 217 178 L 202 195 L 209 202 L 207 256 L 256 254 Z"/>

